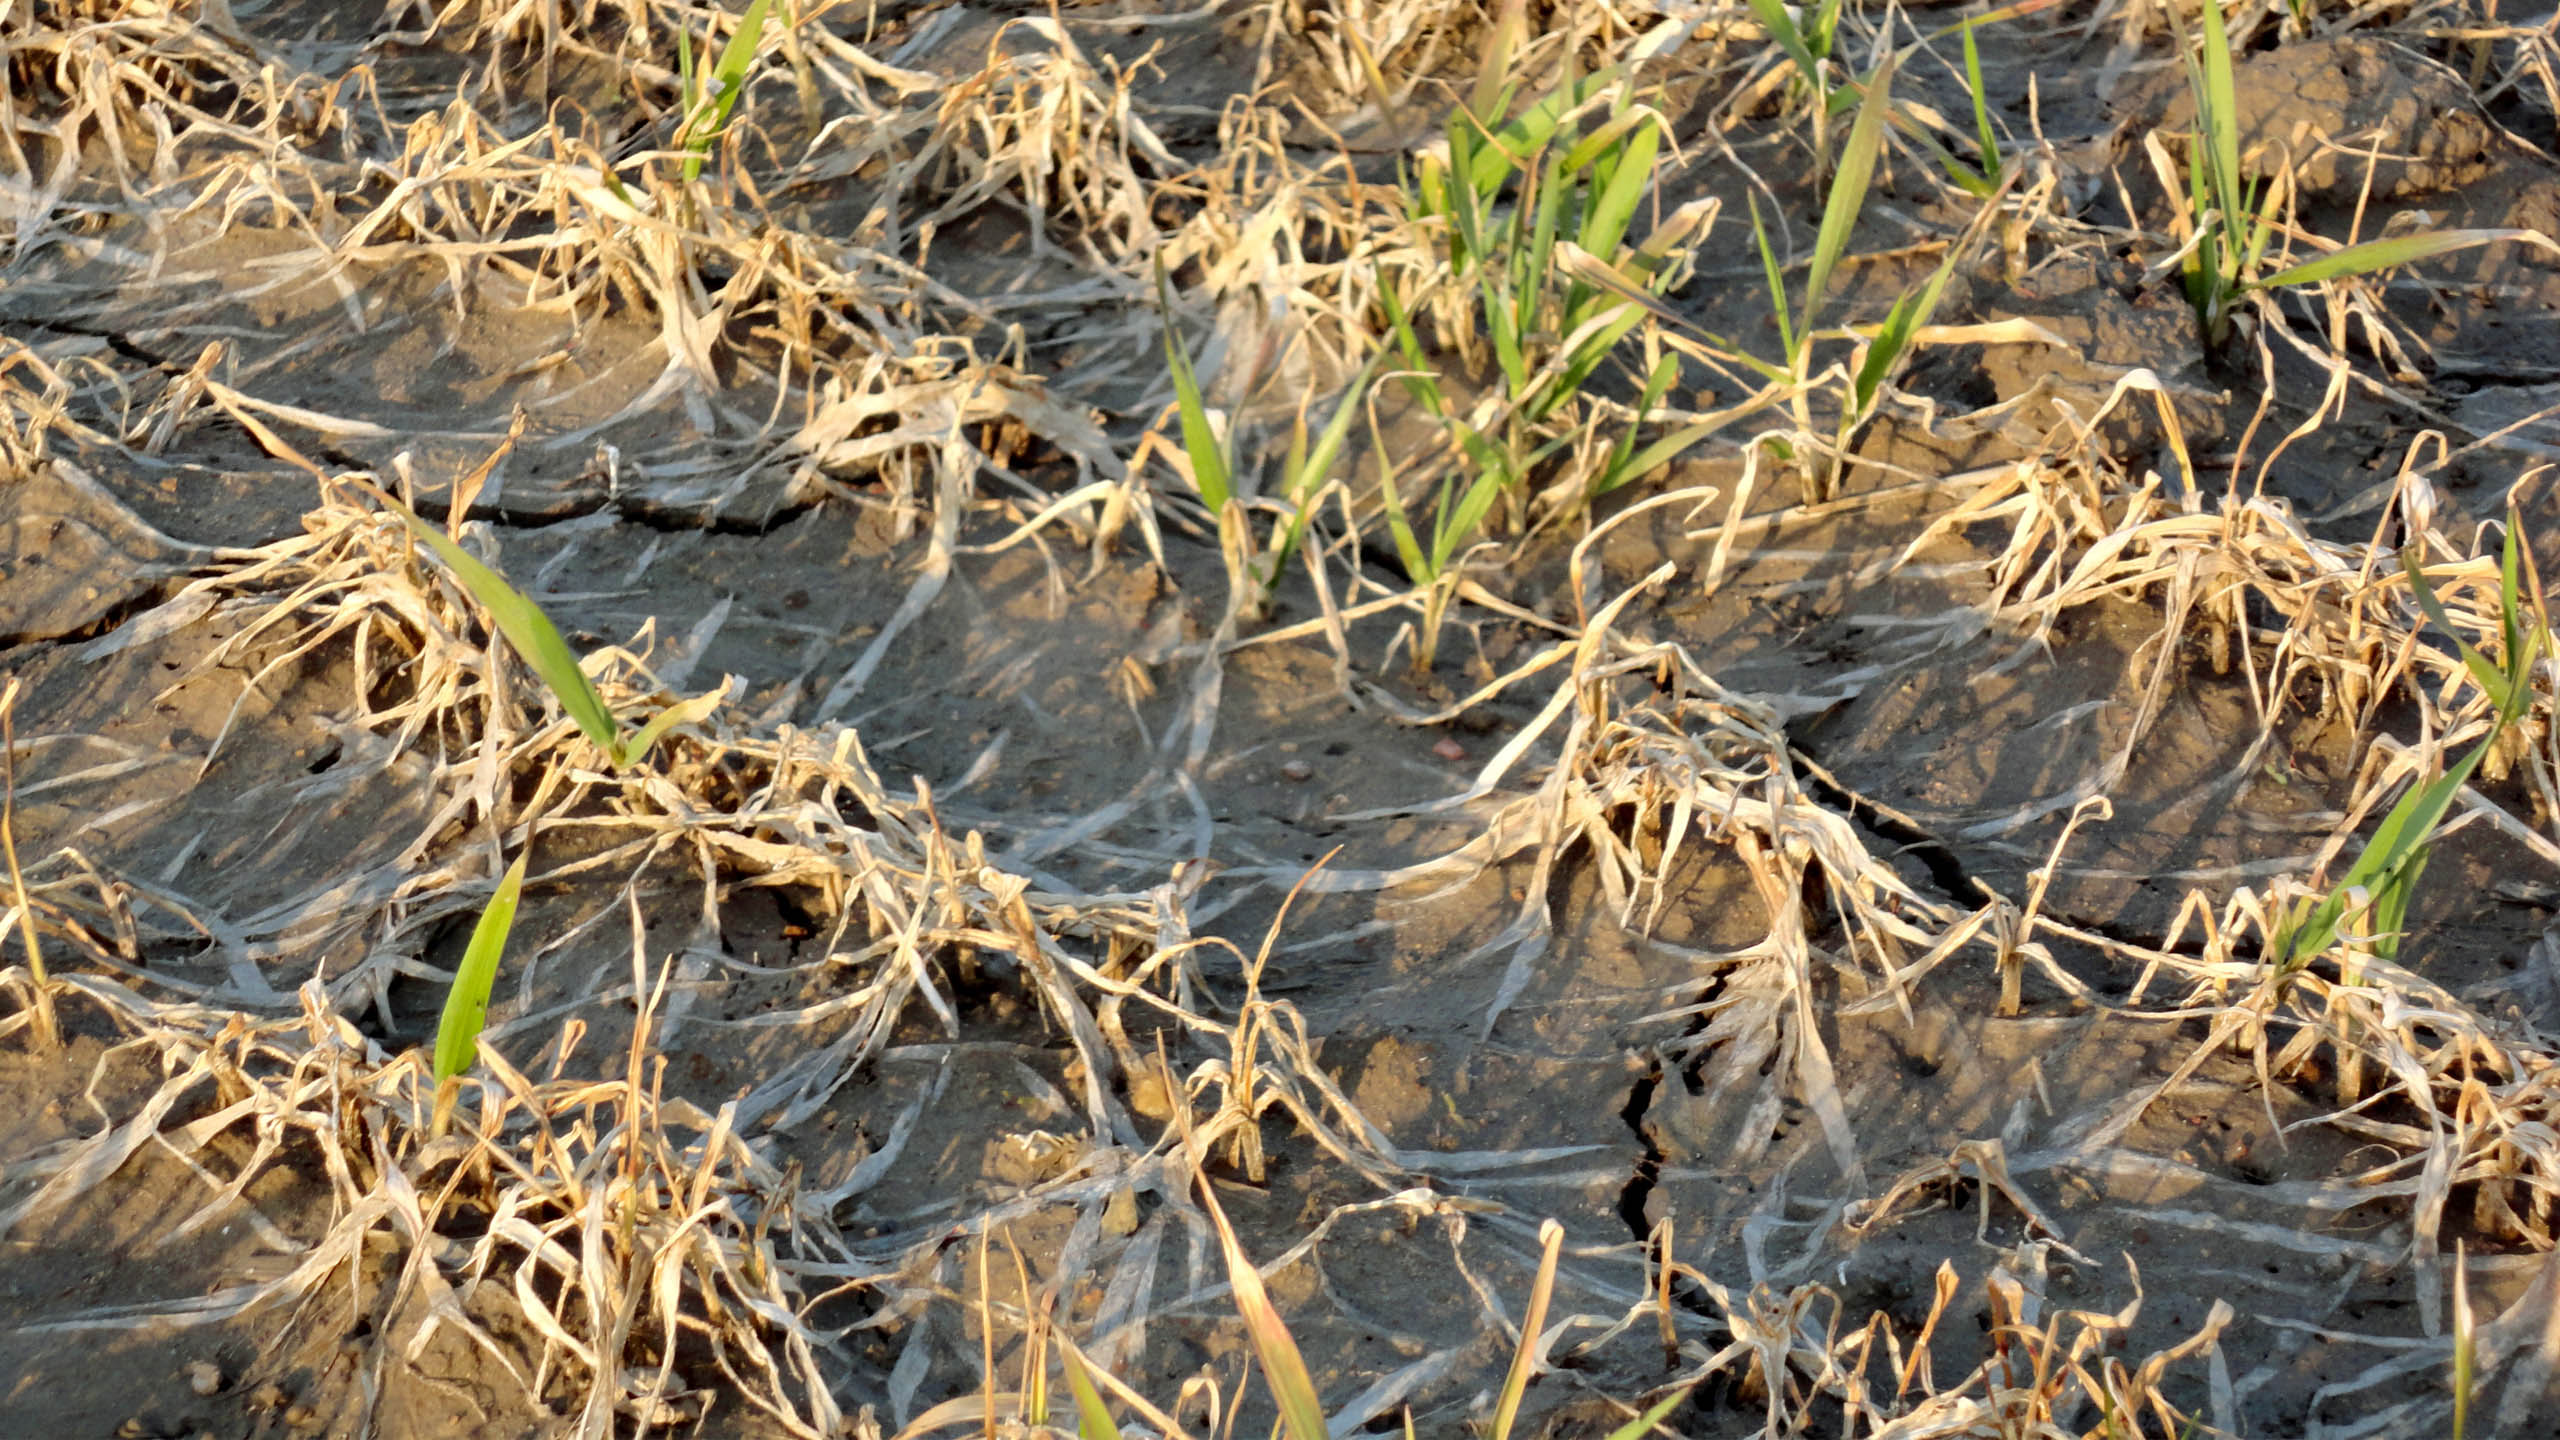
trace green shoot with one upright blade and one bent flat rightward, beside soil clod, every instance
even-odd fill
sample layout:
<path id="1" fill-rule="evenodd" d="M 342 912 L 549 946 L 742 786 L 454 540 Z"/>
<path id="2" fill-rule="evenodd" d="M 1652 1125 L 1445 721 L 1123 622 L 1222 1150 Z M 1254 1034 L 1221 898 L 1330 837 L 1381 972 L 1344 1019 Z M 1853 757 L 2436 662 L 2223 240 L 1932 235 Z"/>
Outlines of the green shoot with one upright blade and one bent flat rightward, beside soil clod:
<path id="1" fill-rule="evenodd" d="M 2186 210 L 2176 215 L 2179 266 L 2186 302 L 2207 348 L 2222 348 L 2232 315 L 2253 292 L 2296 284 L 2322 284 L 2353 274 L 2399 269 L 2409 261 L 2486 246 L 2491 241 L 2540 241 L 2534 231 L 2422 231 L 2335 249 L 2319 259 L 2260 274 L 2284 182 L 2253 182 L 2240 161 L 2240 92 L 2232 79 L 2230 31 L 2222 26 L 2222 0 L 2204 0 L 2202 41 L 2186 51 L 2186 87 L 2196 102 L 2196 133 L 2186 143 Z M 2176 23 L 2176 8 L 2171 8 Z M 2184 23 L 2179 23 L 2184 49 Z M 2158 136 L 2148 138 L 2161 184 L 2179 195 L 2173 167 Z"/>

